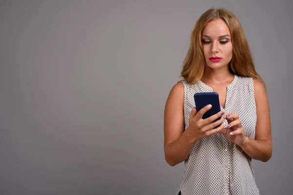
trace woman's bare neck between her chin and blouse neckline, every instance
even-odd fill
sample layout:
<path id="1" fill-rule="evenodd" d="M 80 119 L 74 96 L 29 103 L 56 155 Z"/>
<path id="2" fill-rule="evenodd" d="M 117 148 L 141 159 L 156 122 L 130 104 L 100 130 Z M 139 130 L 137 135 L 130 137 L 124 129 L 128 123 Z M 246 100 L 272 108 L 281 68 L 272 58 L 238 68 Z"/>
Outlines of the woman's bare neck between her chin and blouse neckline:
<path id="1" fill-rule="evenodd" d="M 206 66 L 201 80 L 206 83 L 221 84 L 233 78 L 234 75 L 230 73 L 228 65 L 220 69 L 212 69 Z"/>

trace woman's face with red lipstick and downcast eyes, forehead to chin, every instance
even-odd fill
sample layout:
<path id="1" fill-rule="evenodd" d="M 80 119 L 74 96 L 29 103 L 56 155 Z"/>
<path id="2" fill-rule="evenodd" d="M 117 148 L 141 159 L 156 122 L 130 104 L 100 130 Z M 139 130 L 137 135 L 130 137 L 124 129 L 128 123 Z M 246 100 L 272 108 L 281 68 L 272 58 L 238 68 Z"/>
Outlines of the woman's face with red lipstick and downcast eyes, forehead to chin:
<path id="1" fill-rule="evenodd" d="M 232 59 L 230 30 L 221 20 L 208 22 L 202 34 L 202 47 L 206 65 L 212 69 L 222 68 Z"/>

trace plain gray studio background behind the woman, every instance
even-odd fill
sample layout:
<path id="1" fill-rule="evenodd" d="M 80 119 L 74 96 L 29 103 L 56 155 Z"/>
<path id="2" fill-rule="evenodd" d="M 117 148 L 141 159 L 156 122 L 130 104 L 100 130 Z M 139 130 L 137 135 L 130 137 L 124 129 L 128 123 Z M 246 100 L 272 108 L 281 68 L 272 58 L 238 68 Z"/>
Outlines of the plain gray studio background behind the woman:
<path id="1" fill-rule="evenodd" d="M 292 194 L 292 1 L 1 0 L 0 195 L 174 195 L 164 106 L 212 6 L 239 18 L 268 86 L 257 185 Z"/>

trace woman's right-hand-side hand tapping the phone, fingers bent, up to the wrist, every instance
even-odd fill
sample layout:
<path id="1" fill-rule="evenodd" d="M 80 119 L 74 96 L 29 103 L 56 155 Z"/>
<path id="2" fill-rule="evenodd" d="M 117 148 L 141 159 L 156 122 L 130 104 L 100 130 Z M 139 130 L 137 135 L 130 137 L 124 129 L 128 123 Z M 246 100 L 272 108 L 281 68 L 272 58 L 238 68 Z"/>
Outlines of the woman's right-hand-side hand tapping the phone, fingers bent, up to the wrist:
<path id="1" fill-rule="evenodd" d="M 225 114 L 228 121 L 227 128 L 224 128 L 221 134 L 223 134 L 229 141 L 234 142 L 240 147 L 245 146 L 246 137 L 245 132 L 242 128 L 241 121 L 239 120 L 238 114 Z"/>

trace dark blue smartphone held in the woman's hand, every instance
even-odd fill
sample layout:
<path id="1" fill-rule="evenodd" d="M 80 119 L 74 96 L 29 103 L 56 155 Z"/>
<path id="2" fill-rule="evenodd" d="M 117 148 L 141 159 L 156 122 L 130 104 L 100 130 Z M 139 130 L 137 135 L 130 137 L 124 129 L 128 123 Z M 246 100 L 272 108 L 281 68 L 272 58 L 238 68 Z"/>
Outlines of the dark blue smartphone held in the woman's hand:
<path id="1" fill-rule="evenodd" d="M 208 104 L 211 104 L 212 107 L 209 109 L 204 115 L 203 119 L 208 118 L 214 114 L 217 114 L 221 111 L 220 106 L 220 99 L 219 95 L 216 92 L 205 92 L 205 93 L 196 93 L 194 94 L 194 103 L 196 106 L 196 111 L 198 112 L 203 107 L 207 106 Z M 219 120 L 221 117 L 217 118 L 216 120 Z M 215 120 L 215 121 L 216 121 Z M 218 125 L 217 127 L 219 127 Z M 215 127 L 215 128 L 217 128 Z"/>

